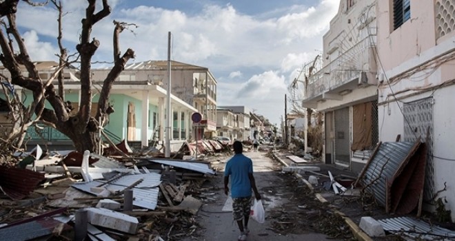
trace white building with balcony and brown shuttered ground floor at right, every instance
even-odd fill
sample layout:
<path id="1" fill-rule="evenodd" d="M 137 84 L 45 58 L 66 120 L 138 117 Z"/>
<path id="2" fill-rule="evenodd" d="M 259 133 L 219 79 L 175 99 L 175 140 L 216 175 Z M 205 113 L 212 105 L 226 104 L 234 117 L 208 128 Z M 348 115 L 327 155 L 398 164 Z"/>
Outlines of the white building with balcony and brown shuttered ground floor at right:
<path id="1" fill-rule="evenodd" d="M 302 106 L 324 115 L 323 160 L 360 172 L 378 143 L 376 1 L 340 1 L 323 53 L 304 67 Z"/>

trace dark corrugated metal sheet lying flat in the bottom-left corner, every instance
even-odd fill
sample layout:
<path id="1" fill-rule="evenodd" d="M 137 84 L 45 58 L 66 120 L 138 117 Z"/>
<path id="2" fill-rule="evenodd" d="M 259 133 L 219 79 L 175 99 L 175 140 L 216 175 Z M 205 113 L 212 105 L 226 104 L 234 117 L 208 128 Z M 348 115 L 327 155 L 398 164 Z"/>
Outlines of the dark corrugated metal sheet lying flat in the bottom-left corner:
<path id="1" fill-rule="evenodd" d="M 52 233 L 61 222 L 53 218 L 44 218 L 33 222 L 0 229 L 0 237 L 8 241 L 23 241 L 39 238 Z"/>

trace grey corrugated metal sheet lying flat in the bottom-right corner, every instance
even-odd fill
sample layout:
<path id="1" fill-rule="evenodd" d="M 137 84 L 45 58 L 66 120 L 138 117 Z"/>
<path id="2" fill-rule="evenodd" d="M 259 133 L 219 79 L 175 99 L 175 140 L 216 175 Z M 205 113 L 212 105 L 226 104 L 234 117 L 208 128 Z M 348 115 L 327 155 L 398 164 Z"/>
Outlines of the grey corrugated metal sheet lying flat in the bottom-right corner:
<path id="1" fill-rule="evenodd" d="M 405 233 L 411 238 L 420 240 L 455 240 L 455 231 L 429 225 L 422 220 L 410 217 L 387 218 L 378 220 L 385 231 L 390 233 Z"/>

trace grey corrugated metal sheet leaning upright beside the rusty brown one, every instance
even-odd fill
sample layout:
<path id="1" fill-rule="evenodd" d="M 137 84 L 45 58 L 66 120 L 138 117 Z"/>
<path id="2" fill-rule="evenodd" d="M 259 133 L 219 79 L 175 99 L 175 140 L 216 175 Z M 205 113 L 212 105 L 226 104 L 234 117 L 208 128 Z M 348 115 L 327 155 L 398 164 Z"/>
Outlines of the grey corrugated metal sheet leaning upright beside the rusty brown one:
<path id="1" fill-rule="evenodd" d="M 367 163 L 363 183 L 369 185 L 367 191 L 373 193 L 380 205 L 390 210 L 390 185 L 396 178 L 398 169 L 407 163 L 416 151 L 420 140 L 412 142 L 382 143 L 374 157 Z M 370 185 L 371 183 L 373 185 Z M 387 200 L 388 198 L 388 200 Z M 387 205 L 389 205 L 387 207 Z"/>

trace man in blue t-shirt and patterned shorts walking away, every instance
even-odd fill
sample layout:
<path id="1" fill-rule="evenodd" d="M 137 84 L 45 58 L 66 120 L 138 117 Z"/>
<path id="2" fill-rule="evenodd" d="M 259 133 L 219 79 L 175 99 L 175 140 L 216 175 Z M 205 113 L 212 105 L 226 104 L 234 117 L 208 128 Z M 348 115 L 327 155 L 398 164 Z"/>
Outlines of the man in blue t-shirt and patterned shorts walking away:
<path id="1" fill-rule="evenodd" d="M 250 158 L 244 156 L 243 145 L 236 140 L 232 145 L 234 156 L 226 164 L 224 171 L 224 193 L 229 193 L 229 177 L 231 178 L 232 214 L 237 221 L 240 229 L 239 240 L 246 240 L 248 230 L 248 220 L 250 219 L 251 197 L 261 200 L 256 182 L 253 176 L 253 163 Z"/>

